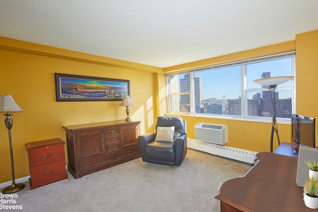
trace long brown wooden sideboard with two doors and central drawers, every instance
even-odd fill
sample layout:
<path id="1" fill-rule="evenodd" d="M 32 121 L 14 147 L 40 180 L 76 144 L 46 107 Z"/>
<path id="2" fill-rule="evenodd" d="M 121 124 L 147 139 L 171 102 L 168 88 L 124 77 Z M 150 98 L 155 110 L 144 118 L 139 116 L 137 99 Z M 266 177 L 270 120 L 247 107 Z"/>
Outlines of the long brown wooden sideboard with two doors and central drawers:
<path id="1" fill-rule="evenodd" d="M 140 121 L 64 126 L 68 171 L 79 178 L 140 157 Z"/>

